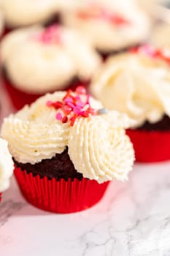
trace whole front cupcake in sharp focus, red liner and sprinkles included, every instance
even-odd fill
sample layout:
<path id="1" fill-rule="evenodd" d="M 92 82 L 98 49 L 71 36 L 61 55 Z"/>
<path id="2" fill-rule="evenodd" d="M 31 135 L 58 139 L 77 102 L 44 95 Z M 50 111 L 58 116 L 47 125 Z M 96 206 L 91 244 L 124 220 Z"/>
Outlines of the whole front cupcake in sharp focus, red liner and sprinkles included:
<path id="1" fill-rule="evenodd" d="M 76 91 L 57 91 L 4 119 L 15 176 L 29 203 L 70 213 L 96 204 L 112 179 L 124 181 L 134 162 L 125 129 L 131 120 Z"/>

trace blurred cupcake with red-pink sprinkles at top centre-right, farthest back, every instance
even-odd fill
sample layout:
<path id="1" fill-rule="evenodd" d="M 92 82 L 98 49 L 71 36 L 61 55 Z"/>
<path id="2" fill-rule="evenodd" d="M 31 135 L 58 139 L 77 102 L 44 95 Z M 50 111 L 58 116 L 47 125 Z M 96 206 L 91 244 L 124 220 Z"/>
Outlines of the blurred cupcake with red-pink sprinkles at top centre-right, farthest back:
<path id="1" fill-rule="evenodd" d="M 79 1 L 61 20 L 82 32 L 103 56 L 145 41 L 150 20 L 133 1 Z"/>

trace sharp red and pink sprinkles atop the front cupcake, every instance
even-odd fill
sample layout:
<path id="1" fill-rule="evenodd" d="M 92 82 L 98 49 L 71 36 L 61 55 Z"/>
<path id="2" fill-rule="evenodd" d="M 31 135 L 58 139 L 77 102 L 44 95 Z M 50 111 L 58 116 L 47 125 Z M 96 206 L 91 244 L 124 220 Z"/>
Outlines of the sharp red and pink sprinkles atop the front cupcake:
<path id="1" fill-rule="evenodd" d="M 85 100 L 82 100 L 82 96 Z M 62 121 L 63 124 L 69 121 L 71 126 L 80 116 L 87 118 L 90 115 L 96 115 L 96 110 L 90 106 L 90 94 L 87 94 L 83 86 L 78 86 L 75 91 L 67 91 L 61 101 L 47 101 L 46 105 L 61 110 L 56 114 L 56 119 Z"/>

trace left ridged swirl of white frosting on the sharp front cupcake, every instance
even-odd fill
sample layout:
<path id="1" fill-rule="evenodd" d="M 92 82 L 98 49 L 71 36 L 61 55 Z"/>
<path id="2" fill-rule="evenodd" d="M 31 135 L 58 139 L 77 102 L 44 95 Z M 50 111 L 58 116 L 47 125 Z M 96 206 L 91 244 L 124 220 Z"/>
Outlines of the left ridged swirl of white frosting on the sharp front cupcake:
<path id="1" fill-rule="evenodd" d="M 68 145 L 70 124 L 56 120 L 57 110 L 47 107 L 46 102 L 61 101 L 65 94 L 64 91 L 47 94 L 30 107 L 26 105 L 4 119 L 1 137 L 9 141 L 9 151 L 18 162 L 35 164 L 64 151 Z M 95 99 L 90 103 L 93 108 L 101 108 Z"/>

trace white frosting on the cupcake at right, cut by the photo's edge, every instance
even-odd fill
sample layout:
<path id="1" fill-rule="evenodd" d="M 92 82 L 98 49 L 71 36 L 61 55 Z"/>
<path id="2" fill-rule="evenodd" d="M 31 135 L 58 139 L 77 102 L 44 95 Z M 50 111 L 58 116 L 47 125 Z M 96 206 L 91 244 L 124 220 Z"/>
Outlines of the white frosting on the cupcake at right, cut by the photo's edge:
<path id="1" fill-rule="evenodd" d="M 170 116 L 170 69 L 162 59 L 133 53 L 111 57 L 90 89 L 106 108 L 133 118 L 134 127 Z"/>

